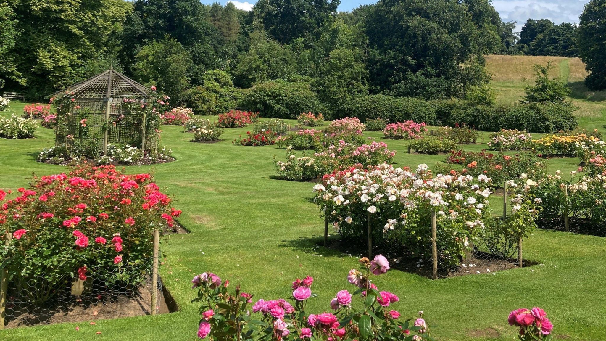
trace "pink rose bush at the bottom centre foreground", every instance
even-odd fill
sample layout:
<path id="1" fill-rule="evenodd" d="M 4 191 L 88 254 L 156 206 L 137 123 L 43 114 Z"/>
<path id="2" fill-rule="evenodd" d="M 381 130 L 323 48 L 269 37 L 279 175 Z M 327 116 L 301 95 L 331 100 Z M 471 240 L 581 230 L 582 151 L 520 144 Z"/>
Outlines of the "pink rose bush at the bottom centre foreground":
<path id="1" fill-rule="evenodd" d="M 391 307 L 399 297 L 389 291 L 379 291 L 373 276 L 388 271 L 389 262 L 382 255 L 373 260 L 361 258 L 361 269 L 351 269 L 347 281 L 354 289 L 336 292 L 326 300 L 330 311 L 310 314 L 307 301 L 318 299 L 313 293 L 312 277 L 297 279 L 291 286 L 289 299 L 255 299 L 253 294 L 236 286 L 228 290 L 228 281 L 204 272 L 191 283 L 198 289 L 193 302 L 201 304 L 198 338 L 227 340 L 433 340 L 425 322 L 419 317 L 401 319 L 401 313 Z M 354 299 L 361 302 L 354 303 Z M 255 302 L 255 303 L 253 303 Z"/>

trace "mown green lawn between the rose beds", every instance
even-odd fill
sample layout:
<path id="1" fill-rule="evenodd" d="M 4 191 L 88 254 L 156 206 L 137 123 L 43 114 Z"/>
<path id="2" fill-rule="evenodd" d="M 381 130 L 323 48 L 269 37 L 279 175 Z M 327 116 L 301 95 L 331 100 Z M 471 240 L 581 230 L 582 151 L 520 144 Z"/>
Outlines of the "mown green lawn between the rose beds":
<path id="1" fill-rule="evenodd" d="M 582 125 L 604 130 L 604 103 L 586 104 L 591 104 L 599 126 L 585 116 Z M 22 105 L 13 104 L 18 112 L 21 108 Z M 0 332 L 0 339 L 193 340 L 199 317 L 197 306 L 190 303 L 195 291 L 189 281 L 203 271 L 213 271 L 265 299 L 288 297 L 293 279 L 311 275 L 318 298 L 310 300 L 310 312 L 330 309 L 330 299 L 337 291 L 351 289 L 345 276 L 357 265 L 355 255 L 316 246 L 321 240 L 323 221 L 318 208 L 310 202 L 313 184 L 271 178 L 275 174 L 272 159 L 283 158 L 284 150 L 232 146 L 231 140 L 244 134 L 246 128 L 225 129 L 224 141 L 216 144 L 190 143 L 191 133 L 184 133 L 179 127 L 167 126 L 163 130 L 162 143 L 173 149 L 177 161 L 127 170 L 154 172 L 159 186 L 175 197 L 175 206 L 183 211 L 180 221 L 191 231 L 172 235 L 162 245 L 166 254 L 162 279 L 180 311 L 155 317 L 101 320 L 96 325 L 84 322 L 8 329 Z M 380 132 L 366 135 L 381 137 Z M 65 170 L 35 162 L 36 152 L 52 143 L 52 131 L 42 127 L 35 139 L 0 139 L 0 188 L 25 186 L 32 172 L 54 174 Z M 431 166 L 444 160 L 443 155 L 407 154 L 404 141 L 387 143 L 390 149 L 398 150 L 398 166 Z M 548 169 L 573 170 L 577 165 L 576 159 L 553 159 Z M 495 206 L 499 208 L 499 204 Z M 376 283 L 399 295 L 395 309 L 403 316 L 413 316 L 423 309 L 428 321 L 435 325 L 433 333 L 439 340 L 512 340 L 517 331 L 507 325 L 508 312 L 532 306 L 547 311 L 556 337 L 606 340 L 606 238 L 535 231 L 524 248 L 525 258 L 541 265 L 436 281 L 393 270 L 376 277 Z M 470 336 L 473 331 L 487 328 L 500 336 Z M 96 331 L 102 334 L 97 335 Z"/>

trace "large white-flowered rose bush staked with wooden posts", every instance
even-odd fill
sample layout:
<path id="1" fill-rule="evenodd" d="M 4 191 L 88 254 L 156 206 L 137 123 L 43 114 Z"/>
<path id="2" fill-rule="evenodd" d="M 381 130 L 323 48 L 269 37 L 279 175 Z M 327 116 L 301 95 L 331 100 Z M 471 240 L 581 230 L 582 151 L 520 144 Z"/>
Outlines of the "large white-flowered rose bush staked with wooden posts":
<path id="1" fill-rule="evenodd" d="M 436 212 L 439 267 L 459 266 L 470 242 L 478 245 L 491 221 L 491 179 L 450 170 L 435 177 L 426 164 L 413 173 L 381 164 L 372 169 L 351 168 L 327 174 L 314 186 L 315 202 L 344 238 L 366 238 L 371 229 L 374 242 L 398 249 L 407 258 L 431 261 L 431 212 Z M 534 184 L 536 186 L 536 184 Z M 518 187 L 525 189 L 525 187 Z M 530 234 L 538 212 L 528 192 L 514 195 L 515 211 L 500 231 L 518 240 Z M 519 201 L 519 203 L 518 203 Z M 519 206 L 517 206 L 519 205 Z M 488 240 L 490 242 L 490 240 Z M 421 263 L 421 262 L 419 262 Z"/>

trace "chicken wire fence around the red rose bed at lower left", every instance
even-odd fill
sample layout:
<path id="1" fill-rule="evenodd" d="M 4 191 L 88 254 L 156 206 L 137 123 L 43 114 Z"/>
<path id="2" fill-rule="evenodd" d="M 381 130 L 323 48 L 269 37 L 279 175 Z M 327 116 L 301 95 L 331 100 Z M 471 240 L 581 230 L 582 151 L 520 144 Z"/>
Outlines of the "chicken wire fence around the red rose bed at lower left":
<path id="1" fill-rule="evenodd" d="M 155 315 L 167 306 L 158 256 L 87 266 L 85 277 L 74 272 L 56 278 L 45 273 L 21 277 L 3 270 L 0 329 Z"/>

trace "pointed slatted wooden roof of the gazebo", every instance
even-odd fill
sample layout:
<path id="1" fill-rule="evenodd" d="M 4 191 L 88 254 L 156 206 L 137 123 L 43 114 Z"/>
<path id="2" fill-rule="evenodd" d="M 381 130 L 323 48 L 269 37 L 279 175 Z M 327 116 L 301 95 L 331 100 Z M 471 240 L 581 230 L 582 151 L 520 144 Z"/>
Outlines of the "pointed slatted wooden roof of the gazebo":
<path id="1" fill-rule="evenodd" d="M 99 73 L 99 75 L 73 84 L 67 89 L 53 93 L 53 96 L 62 93 L 73 92 L 75 98 L 124 98 L 129 96 L 145 96 L 153 97 L 150 90 L 141 84 L 133 81 L 122 73 L 114 70 L 113 67 L 109 70 Z"/>

